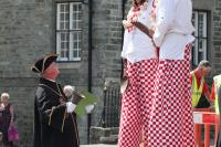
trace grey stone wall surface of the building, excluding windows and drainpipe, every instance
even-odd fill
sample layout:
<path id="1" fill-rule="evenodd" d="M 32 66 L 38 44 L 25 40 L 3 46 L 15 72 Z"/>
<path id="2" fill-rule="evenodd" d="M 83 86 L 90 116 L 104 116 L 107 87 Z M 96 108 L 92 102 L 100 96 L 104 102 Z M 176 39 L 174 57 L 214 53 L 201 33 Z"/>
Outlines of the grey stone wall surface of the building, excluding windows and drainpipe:
<path id="1" fill-rule="evenodd" d="M 38 76 L 30 71 L 30 66 L 36 57 L 55 52 L 55 3 L 66 1 L 75 0 L 0 0 L 0 93 L 11 95 L 21 147 L 32 147 Z M 59 81 L 77 88 L 87 88 L 88 85 L 88 0 L 84 1 L 82 60 L 59 63 Z M 221 0 L 193 0 L 193 7 L 210 12 L 209 60 L 214 67 L 213 74 L 219 74 Z M 118 81 L 120 76 L 122 15 L 122 0 L 93 0 L 92 92 L 101 99 L 92 114 L 93 126 L 98 126 L 101 119 L 105 81 Z M 86 144 L 87 116 L 80 117 L 77 122 L 81 143 Z"/>

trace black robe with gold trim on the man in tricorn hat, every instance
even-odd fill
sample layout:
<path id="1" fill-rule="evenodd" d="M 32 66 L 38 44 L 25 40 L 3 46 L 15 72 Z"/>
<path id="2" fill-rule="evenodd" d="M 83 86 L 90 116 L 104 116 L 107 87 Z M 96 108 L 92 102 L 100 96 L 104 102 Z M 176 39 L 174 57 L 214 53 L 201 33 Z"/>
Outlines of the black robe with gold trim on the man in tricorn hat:
<path id="1" fill-rule="evenodd" d="M 34 101 L 34 147 L 80 147 L 76 115 L 55 82 L 40 78 Z"/>

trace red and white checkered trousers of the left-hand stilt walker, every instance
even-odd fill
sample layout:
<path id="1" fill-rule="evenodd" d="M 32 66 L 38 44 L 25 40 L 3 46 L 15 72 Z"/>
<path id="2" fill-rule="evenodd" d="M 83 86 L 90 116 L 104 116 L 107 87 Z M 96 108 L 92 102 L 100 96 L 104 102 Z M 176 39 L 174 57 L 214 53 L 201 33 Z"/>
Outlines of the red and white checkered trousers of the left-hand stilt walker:
<path id="1" fill-rule="evenodd" d="M 143 130 L 147 134 L 157 64 L 154 59 L 127 64 L 129 85 L 122 99 L 118 147 L 139 147 Z"/>

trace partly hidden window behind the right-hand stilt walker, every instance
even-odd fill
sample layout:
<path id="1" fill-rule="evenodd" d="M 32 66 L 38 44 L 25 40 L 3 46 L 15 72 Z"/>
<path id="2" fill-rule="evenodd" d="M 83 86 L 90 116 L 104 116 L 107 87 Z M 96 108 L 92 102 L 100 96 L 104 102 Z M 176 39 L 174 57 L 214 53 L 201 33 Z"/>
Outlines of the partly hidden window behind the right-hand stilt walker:
<path id="1" fill-rule="evenodd" d="M 208 13 L 206 11 L 193 11 L 192 22 L 196 28 L 192 64 L 198 65 L 201 60 L 207 60 L 208 54 Z"/>

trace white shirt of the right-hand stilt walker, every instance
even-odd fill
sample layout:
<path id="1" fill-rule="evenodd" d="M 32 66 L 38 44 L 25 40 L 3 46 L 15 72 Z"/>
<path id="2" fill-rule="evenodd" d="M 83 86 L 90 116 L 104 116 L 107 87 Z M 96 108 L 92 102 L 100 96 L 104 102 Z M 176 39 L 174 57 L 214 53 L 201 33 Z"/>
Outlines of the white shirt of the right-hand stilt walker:
<path id="1" fill-rule="evenodd" d="M 185 46 L 193 42 L 191 0 L 158 0 L 154 41 L 160 60 L 183 60 Z"/>

